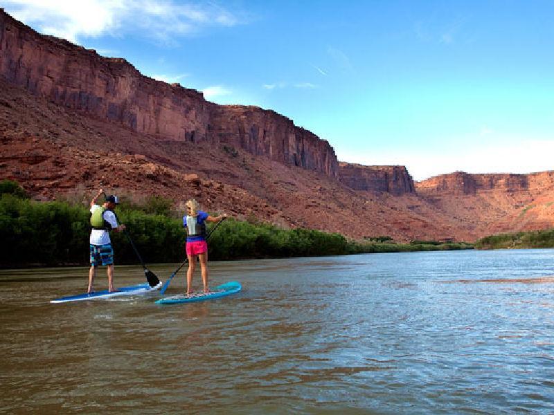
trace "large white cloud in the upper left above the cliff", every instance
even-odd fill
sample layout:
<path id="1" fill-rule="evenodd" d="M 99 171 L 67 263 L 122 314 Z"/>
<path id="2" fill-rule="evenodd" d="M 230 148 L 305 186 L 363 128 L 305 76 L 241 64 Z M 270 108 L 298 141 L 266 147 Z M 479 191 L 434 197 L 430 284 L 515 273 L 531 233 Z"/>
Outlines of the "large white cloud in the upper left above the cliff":
<path id="1" fill-rule="evenodd" d="M 2 7 L 40 32 L 74 43 L 136 31 L 170 44 L 175 36 L 236 26 L 246 19 L 214 3 L 176 0 L 3 0 Z"/>

